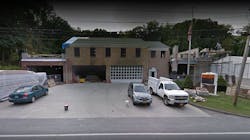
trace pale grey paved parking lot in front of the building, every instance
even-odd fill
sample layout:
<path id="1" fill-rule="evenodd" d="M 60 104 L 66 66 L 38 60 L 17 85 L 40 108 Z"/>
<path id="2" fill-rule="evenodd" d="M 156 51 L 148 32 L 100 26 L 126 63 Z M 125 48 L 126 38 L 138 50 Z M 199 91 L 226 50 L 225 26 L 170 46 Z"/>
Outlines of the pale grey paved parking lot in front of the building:
<path id="1" fill-rule="evenodd" d="M 189 104 L 181 108 L 165 106 L 158 96 L 153 96 L 150 106 L 134 106 L 127 87 L 109 83 L 58 85 L 34 103 L 0 103 L 0 118 L 209 117 Z M 68 111 L 64 111 L 65 104 L 69 105 Z"/>

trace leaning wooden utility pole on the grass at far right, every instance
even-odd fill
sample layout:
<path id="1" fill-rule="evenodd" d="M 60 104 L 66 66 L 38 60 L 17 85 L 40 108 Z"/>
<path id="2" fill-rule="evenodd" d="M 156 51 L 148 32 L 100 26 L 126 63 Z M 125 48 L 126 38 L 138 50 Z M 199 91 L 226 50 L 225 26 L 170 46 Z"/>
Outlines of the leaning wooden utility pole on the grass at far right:
<path id="1" fill-rule="evenodd" d="M 250 12 L 250 9 L 248 9 L 248 12 Z M 234 102 L 233 102 L 234 106 L 237 105 L 238 95 L 240 93 L 240 85 L 241 85 L 242 77 L 243 77 L 244 70 L 245 70 L 247 56 L 248 56 L 248 53 L 249 53 L 249 41 L 250 41 L 250 32 L 249 32 L 249 30 L 250 29 L 247 30 L 247 41 L 246 41 L 244 54 L 243 54 L 243 59 L 242 59 L 242 63 L 241 63 L 240 75 L 239 75 L 239 78 L 238 78 L 238 82 L 237 82 L 236 90 L 235 90 L 235 94 L 234 94 Z"/>

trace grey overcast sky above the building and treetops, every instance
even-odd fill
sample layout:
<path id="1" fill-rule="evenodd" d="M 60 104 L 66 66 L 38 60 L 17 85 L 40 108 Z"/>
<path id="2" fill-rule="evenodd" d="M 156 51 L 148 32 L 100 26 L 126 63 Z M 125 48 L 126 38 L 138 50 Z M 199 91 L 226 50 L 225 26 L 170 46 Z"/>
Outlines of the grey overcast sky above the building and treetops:
<path id="1" fill-rule="evenodd" d="M 211 18 L 238 29 L 249 22 L 250 2 L 54 1 L 53 6 L 58 16 L 82 30 L 126 31 L 152 20 L 175 24 L 191 19 L 192 7 L 194 18 Z"/>

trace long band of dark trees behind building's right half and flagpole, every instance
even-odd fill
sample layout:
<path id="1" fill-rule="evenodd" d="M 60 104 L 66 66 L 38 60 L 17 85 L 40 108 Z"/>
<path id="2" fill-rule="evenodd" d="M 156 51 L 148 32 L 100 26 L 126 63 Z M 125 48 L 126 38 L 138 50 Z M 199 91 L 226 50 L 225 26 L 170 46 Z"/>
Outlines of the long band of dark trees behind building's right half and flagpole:
<path id="1" fill-rule="evenodd" d="M 137 26 L 125 32 L 123 36 L 142 38 L 149 41 L 161 41 L 169 46 L 178 45 L 179 51 L 185 51 L 188 48 L 187 33 L 190 24 L 191 20 L 186 20 L 174 25 L 160 25 L 157 21 L 150 21 L 146 25 Z M 234 39 L 232 35 L 228 33 L 230 29 L 230 25 L 218 24 L 217 21 L 212 21 L 211 19 L 194 19 L 192 26 L 192 48 L 214 49 L 217 42 L 224 42 L 222 47 L 226 44 L 230 46 L 232 44 L 230 41 Z M 233 45 L 228 48 L 233 49 L 235 46 L 239 48 L 242 45 L 239 42 L 239 40 L 236 40 Z M 236 54 L 239 54 L 239 52 Z"/>

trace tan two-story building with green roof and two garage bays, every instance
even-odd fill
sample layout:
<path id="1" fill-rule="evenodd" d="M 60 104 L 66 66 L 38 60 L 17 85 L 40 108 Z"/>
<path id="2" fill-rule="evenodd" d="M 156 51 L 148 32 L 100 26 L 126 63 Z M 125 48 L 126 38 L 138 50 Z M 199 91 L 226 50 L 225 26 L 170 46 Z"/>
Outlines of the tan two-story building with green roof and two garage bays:
<path id="1" fill-rule="evenodd" d="M 143 82 L 149 75 L 169 75 L 169 47 L 159 41 L 72 37 L 62 48 L 66 83 L 89 75 L 107 82 Z"/>

